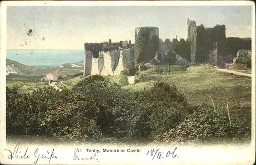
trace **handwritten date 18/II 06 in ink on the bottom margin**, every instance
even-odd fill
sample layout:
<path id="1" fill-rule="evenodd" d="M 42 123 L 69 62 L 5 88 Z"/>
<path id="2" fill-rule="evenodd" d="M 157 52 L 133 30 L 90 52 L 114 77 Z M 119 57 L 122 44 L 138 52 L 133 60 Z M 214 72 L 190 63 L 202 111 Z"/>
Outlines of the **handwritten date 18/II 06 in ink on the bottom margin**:
<path id="1" fill-rule="evenodd" d="M 166 153 L 164 152 L 160 152 L 159 149 L 155 150 L 148 150 L 146 155 L 151 156 L 152 160 L 154 159 L 162 159 L 165 157 L 170 157 L 172 156 L 172 158 L 179 158 L 179 156 L 177 156 L 177 154 L 175 154 L 175 151 L 177 150 L 177 147 L 173 150 L 173 151 L 167 151 Z"/>

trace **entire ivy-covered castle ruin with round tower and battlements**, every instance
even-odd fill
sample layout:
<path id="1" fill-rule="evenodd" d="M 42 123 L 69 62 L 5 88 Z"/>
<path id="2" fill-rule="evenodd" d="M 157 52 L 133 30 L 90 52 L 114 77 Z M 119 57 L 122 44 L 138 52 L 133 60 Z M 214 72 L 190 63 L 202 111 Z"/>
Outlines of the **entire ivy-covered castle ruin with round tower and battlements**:
<path id="1" fill-rule="evenodd" d="M 84 76 L 118 75 L 124 68 L 158 59 L 161 63 L 188 65 L 209 63 L 225 67 L 241 49 L 251 50 L 251 38 L 226 38 L 225 25 L 206 28 L 187 19 L 187 39 L 159 38 L 159 28 L 135 29 L 135 43 L 130 41 L 84 43 Z"/>

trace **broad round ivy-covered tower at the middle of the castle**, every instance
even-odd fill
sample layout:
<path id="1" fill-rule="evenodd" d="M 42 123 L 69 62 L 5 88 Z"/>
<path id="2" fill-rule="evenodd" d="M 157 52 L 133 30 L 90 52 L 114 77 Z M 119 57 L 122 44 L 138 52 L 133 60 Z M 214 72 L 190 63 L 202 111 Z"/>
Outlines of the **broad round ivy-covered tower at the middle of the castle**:
<path id="1" fill-rule="evenodd" d="M 135 64 L 149 62 L 156 56 L 159 46 L 159 29 L 157 27 L 140 27 L 135 29 L 134 55 Z"/>

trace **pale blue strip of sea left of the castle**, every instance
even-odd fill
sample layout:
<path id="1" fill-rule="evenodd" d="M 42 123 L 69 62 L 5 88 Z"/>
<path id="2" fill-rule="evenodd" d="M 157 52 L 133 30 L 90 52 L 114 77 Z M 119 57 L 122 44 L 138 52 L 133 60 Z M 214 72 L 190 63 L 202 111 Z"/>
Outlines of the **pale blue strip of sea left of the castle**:
<path id="1" fill-rule="evenodd" d="M 7 50 L 7 58 L 28 66 L 59 66 L 84 60 L 84 50 Z"/>

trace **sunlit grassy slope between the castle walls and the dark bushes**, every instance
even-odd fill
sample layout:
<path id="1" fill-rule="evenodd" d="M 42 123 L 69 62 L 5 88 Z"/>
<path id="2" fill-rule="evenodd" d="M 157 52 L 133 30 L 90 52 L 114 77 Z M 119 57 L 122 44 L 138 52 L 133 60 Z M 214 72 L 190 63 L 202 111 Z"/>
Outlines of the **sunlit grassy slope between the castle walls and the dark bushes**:
<path id="1" fill-rule="evenodd" d="M 170 85 L 175 84 L 191 104 L 212 105 L 212 99 L 216 106 L 222 108 L 225 108 L 226 104 L 233 110 L 251 107 L 251 79 L 220 73 L 211 65 L 195 65 L 188 67 L 186 71 L 170 71 L 163 74 L 151 74 L 148 70 L 140 73 L 150 78 L 134 85 L 123 85 L 122 88 L 141 91 L 144 87 L 148 89 L 154 82 L 161 80 Z M 109 76 L 109 78 L 112 82 L 122 85 L 119 81 L 123 76 Z M 83 79 L 80 75 L 66 79 L 63 84 L 73 86 Z"/>

